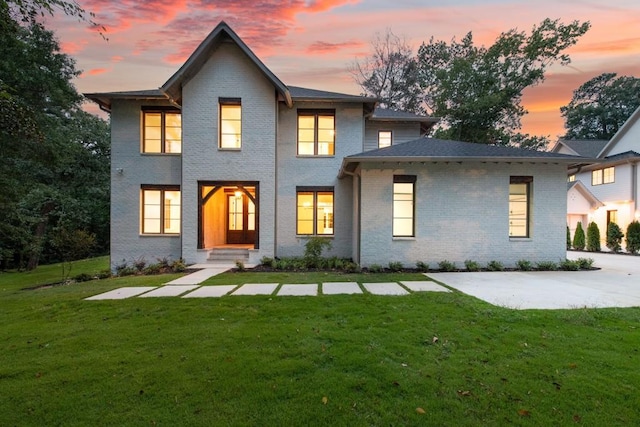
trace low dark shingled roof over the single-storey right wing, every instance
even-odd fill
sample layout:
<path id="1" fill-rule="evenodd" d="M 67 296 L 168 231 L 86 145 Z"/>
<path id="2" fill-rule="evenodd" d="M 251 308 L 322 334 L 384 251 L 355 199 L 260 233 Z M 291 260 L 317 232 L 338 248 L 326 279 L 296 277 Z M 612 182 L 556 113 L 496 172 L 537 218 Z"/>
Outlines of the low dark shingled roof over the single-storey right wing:
<path id="1" fill-rule="evenodd" d="M 524 148 L 476 144 L 436 138 L 419 138 L 390 147 L 366 151 L 345 157 L 339 177 L 355 170 L 359 163 L 367 162 L 527 162 L 566 163 L 572 165 L 585 161 L 581 156 L 552 153 L 550 151 L 526 150 Z"/>

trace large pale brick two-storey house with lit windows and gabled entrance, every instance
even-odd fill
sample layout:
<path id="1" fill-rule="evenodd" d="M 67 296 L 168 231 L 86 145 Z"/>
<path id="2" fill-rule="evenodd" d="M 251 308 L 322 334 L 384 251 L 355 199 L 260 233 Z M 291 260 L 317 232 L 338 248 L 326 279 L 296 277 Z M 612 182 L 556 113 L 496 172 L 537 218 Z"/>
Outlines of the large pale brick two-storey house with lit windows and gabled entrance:
<path id="1" fill-rule="evenodd" d="M 224 22 L 111 114 L 111 260 L 299 256 L 362 266 L 565 257 L 577 157 L 426 138 L 432 117 L 285 85 Z M 241 252 L 242 251 L 242 252 Z"/>

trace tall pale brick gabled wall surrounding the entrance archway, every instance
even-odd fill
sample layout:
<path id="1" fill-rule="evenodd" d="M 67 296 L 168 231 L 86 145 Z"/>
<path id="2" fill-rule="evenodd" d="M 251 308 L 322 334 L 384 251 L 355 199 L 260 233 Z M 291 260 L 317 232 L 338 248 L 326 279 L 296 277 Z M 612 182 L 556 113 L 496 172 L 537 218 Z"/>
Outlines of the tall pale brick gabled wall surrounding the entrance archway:
<path id="1" fill-rule="evenodd" d="M 242 149 L 218 149 L 218 98 L 242 100 Z M 183 88 L 183 239 L 187 262 L 202 262 L 198 245 L 198 181 L 259 182 L 259 246 L 252 261 L 273 256 L 275 135 L 273 84 L 231 43 L 222 43 Z"/>

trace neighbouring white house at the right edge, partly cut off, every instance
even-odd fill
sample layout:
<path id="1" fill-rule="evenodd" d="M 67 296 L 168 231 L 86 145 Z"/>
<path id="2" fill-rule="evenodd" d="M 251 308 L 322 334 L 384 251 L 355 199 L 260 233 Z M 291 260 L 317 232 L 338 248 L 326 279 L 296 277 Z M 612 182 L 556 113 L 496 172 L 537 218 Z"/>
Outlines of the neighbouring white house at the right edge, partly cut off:
<path id="1" fill-rule="evenodd" d="M 610 222 L 624 233 L 630 222 L 640 219 L 640 108 L 610 141 L 560 140 L 552 151 L 598 160 L 568 171 L 567 224 L 572 235 L 578 222 L 586 227 L 593 221 L 604 245 Z"/>

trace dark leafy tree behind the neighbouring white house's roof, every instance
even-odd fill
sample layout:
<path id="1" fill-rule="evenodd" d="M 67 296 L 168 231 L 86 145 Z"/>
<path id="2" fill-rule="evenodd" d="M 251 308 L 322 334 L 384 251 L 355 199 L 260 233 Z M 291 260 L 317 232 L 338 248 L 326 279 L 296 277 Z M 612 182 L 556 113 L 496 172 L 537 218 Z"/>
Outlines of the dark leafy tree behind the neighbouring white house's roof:
<path id="1" fill-rule="evenodd" d="M 640 78 L 603 73 L 573 91 L 560 108 L 565 139 L 609 140 L 640 107 Z"/>

